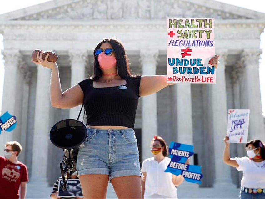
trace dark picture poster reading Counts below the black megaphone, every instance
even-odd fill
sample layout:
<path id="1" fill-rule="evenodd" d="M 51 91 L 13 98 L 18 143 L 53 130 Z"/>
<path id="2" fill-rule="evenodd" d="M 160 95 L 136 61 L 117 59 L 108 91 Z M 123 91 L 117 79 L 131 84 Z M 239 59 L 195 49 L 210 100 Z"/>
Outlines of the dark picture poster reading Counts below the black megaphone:
<path id="1" fill-rule="evenodd" d="M 69 179 L 66 181 L 66 190 L 63 191 L 60 184 L 63 183 L 63 179 L 59 179 L 58 197 L 83 197 L 81 184 L 79 179 Z"/>

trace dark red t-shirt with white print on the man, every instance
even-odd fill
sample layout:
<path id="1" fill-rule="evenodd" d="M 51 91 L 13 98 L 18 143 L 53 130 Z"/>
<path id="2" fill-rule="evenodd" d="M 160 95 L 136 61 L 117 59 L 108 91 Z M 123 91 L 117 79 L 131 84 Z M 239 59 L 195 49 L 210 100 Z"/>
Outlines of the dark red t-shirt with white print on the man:
<path id="1" fill-rule="evenodd" d="M 20 183 L 28 182 L 27 166 L 0 156 L 0 172 L 0 198 L 19 198 Z"/>

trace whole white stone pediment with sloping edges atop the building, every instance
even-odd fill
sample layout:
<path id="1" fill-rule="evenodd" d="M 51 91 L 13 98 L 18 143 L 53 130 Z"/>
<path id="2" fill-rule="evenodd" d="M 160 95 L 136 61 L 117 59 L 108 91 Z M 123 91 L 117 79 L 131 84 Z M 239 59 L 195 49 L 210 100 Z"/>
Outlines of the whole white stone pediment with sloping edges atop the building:
<path id="1" fill-rule="evenodd" d="M 100 20 L 213 17 L 264 19 L 265 13 L 213 0 L 53 0 L 11 13 L 0 20 Z"/>

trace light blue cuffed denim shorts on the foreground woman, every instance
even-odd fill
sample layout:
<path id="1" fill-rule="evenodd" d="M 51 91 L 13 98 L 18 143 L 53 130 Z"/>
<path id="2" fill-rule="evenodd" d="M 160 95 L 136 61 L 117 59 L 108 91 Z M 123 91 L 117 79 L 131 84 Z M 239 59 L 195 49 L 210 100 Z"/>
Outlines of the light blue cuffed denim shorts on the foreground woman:
<path id="1" fill-rule="evenodd" d="M 139 151 L 133 129 L 87 128 L 87 138 L 79 146 L 78 176 L 107 174 L 109 180 L 120 176 L 140 176 Z"/>

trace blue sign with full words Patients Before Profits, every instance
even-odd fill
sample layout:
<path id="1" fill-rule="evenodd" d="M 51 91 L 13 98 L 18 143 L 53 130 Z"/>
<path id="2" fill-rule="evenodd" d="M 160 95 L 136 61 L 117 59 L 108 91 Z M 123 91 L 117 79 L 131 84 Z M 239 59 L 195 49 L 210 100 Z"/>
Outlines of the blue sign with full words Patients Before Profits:
<path id="1" fill-rule="evenodd" d="M 170 142 L 169 156 L 171 158 L 168 168 L 165 172 L 170 172 L 176 176 L 182 175 L 187 182 L 201 184 L 201 166 L 186 165 L 186 160 L 194 154 L 193 146 Z"/>

